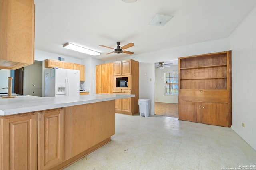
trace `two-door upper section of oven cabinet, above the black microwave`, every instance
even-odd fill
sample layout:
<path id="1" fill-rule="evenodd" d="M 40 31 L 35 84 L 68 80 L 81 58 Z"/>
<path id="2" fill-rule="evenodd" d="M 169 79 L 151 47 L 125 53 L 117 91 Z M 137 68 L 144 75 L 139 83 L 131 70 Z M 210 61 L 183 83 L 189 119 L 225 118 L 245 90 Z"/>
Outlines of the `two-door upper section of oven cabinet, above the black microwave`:
<path id="1" fill-rule="evenodd" d="M 135 65 L 136 62 L 137 61 L 134 61 L 132 59 L 114 62 L 113 63 L 113 76 L 116 76 L 116 75 L 131 75 L 132 70 L 136 71 L 136 68 L 134 68 L 134 65 Z M 133 67 L 133 69 L 132 69 L 132 67 Z"/>

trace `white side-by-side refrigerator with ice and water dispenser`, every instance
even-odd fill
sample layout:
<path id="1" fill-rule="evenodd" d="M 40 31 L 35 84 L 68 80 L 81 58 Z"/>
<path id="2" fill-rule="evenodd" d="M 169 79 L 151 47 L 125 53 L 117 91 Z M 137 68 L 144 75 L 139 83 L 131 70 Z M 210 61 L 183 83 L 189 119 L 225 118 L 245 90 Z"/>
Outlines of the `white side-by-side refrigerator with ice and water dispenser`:
<path id="1" fill-rule="evenodd" d="M 46 68 L 44 75 L 44 97 L 79 95 L 79 70 Z"/>

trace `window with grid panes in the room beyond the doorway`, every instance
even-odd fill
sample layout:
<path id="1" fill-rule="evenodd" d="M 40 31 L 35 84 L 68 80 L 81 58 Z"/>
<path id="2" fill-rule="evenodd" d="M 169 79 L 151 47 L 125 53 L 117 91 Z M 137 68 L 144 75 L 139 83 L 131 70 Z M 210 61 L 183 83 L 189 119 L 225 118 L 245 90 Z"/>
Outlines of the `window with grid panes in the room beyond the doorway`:
<path id="1" fill-rule="evenodd" d="M 165 95 L 179 94 L 179 73 L 178 71 L 164 73 Z"/>

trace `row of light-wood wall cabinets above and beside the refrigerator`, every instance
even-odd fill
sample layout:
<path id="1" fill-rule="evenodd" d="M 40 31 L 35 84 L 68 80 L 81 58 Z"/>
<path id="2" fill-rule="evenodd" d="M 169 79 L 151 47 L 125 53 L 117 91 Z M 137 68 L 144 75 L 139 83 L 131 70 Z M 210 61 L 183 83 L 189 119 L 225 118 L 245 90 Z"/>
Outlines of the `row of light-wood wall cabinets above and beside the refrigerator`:
<path id="1" fill-rule="evenodd" d="M 80 70 L 80 81 L 85 81 L 85 65 L 59 61 L 55 59 L 45 59 L 44 67 L 45 68 L 59 67 L 64 69 Z"/>

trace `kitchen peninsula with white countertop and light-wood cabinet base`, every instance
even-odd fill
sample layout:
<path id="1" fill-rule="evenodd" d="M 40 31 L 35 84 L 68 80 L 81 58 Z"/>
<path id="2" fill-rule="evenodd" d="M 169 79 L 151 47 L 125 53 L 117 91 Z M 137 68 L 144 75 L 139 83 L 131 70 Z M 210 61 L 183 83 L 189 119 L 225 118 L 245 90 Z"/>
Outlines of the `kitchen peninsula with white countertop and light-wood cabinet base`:
<path id="1" fill-rule="evenodd" d="M 111 141 L 124 94 L 0 99 L 0 170 L 62 169 Z"/>

